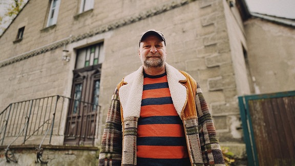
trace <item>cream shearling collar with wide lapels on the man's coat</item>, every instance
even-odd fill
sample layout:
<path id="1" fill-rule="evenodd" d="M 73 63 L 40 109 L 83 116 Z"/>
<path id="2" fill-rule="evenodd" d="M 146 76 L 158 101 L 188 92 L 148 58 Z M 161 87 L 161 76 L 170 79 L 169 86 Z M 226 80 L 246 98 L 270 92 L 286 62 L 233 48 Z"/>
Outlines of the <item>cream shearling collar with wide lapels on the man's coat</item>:
<path id="1" fill-rule="evenodd" d="M 187 96 L 187 88 L 180 82 L 186 82 L 186 77 L 167 63 L 165 63 L 165 69 L 173 104 L 180 116 Z M 139 118 L 143 90 L 143 66 L 127 75 L 124 78 L 124 84 L 119 90 L 123 117 Z"/>

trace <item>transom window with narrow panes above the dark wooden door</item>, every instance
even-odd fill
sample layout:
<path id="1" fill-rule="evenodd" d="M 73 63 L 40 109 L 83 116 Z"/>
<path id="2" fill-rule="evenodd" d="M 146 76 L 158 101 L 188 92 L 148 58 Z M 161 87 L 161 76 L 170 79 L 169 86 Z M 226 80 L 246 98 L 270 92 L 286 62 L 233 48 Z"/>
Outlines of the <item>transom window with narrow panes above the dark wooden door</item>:
<path id="1" fill-rule="evenodd" d="M 82 48 L 77 51 L 76 69 L 102 64 L 103 60 L 103 43 Z"/>

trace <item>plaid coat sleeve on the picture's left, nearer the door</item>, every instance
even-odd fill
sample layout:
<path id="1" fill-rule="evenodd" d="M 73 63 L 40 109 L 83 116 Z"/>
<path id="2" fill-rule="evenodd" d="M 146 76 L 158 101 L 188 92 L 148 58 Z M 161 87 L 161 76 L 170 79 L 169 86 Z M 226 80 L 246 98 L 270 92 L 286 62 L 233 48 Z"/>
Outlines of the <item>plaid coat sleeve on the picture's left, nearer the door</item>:
<path id="1" fill-rule="evenodd" d="M 122 124 L 120 100 L 116 88 L 109 108 L 106 126 L 104 127 L 99 165 L 121 165 L 122 156 Z"/>

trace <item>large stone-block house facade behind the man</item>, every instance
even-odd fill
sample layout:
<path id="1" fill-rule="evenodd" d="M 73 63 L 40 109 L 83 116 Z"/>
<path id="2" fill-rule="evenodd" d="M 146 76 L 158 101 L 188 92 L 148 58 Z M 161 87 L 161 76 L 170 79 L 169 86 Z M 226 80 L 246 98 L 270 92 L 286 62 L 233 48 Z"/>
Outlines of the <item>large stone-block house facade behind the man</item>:
<path id="1" fill-rule="evenodd" d="M 237 96 L 247 93 L 242 49 L 245 38 L 235 23 L 240 18 L 233 16 L 226 1 L 101 1 L 81 14 L 77 13 L 78 1 L 61 1 L 57 24 L 47 28 L 47 11 L 39 11 L 47 9 L 46 5 L 29 1 L 0 38 L 4 55 L 0 57 L 0 86 L 4 87 L 0 90 L 1 110 L 15 101 L 70 96 L 76 49 L 103 41 L 99 146 L 117 83 L 141 65 L 141 33 L 157 29 L 167 40 L 167 62 L 200 84 L 221 143 L 234 142 L 233 149 L 240 146 L 242 150 L 237 153 L 244 152 Z M 35 13 L 39 13 L 37 17 Z M 24 25 L 24 39 L 13 44 L 17 29 Z M 64 46 L 69 50 L 69 62 L 61 60 Z"/>

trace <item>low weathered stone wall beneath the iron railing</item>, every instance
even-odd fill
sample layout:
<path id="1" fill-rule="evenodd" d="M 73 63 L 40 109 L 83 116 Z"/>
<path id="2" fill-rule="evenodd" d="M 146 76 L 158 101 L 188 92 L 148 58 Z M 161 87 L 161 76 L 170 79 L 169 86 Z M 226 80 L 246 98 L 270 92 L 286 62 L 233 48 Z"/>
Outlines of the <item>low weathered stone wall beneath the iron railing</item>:
<path id="1" fill-rule="evenodd" d="M 41 160 L 48 162 L 47 164 L 42 164 L 40 160 L 37 161 L 36 148 L 38 147 L 12 147 L 7 153 L 11 159 L 10 162 L 7 162 L 5 157 L 6 151 L 3 150 L 0 152 L 0 165 L 98 165 L 99 151 L 94 148 L 78 149 L 76 147 L 47 146 L 43 149 L 43 154 L 41 156 Z"/>

